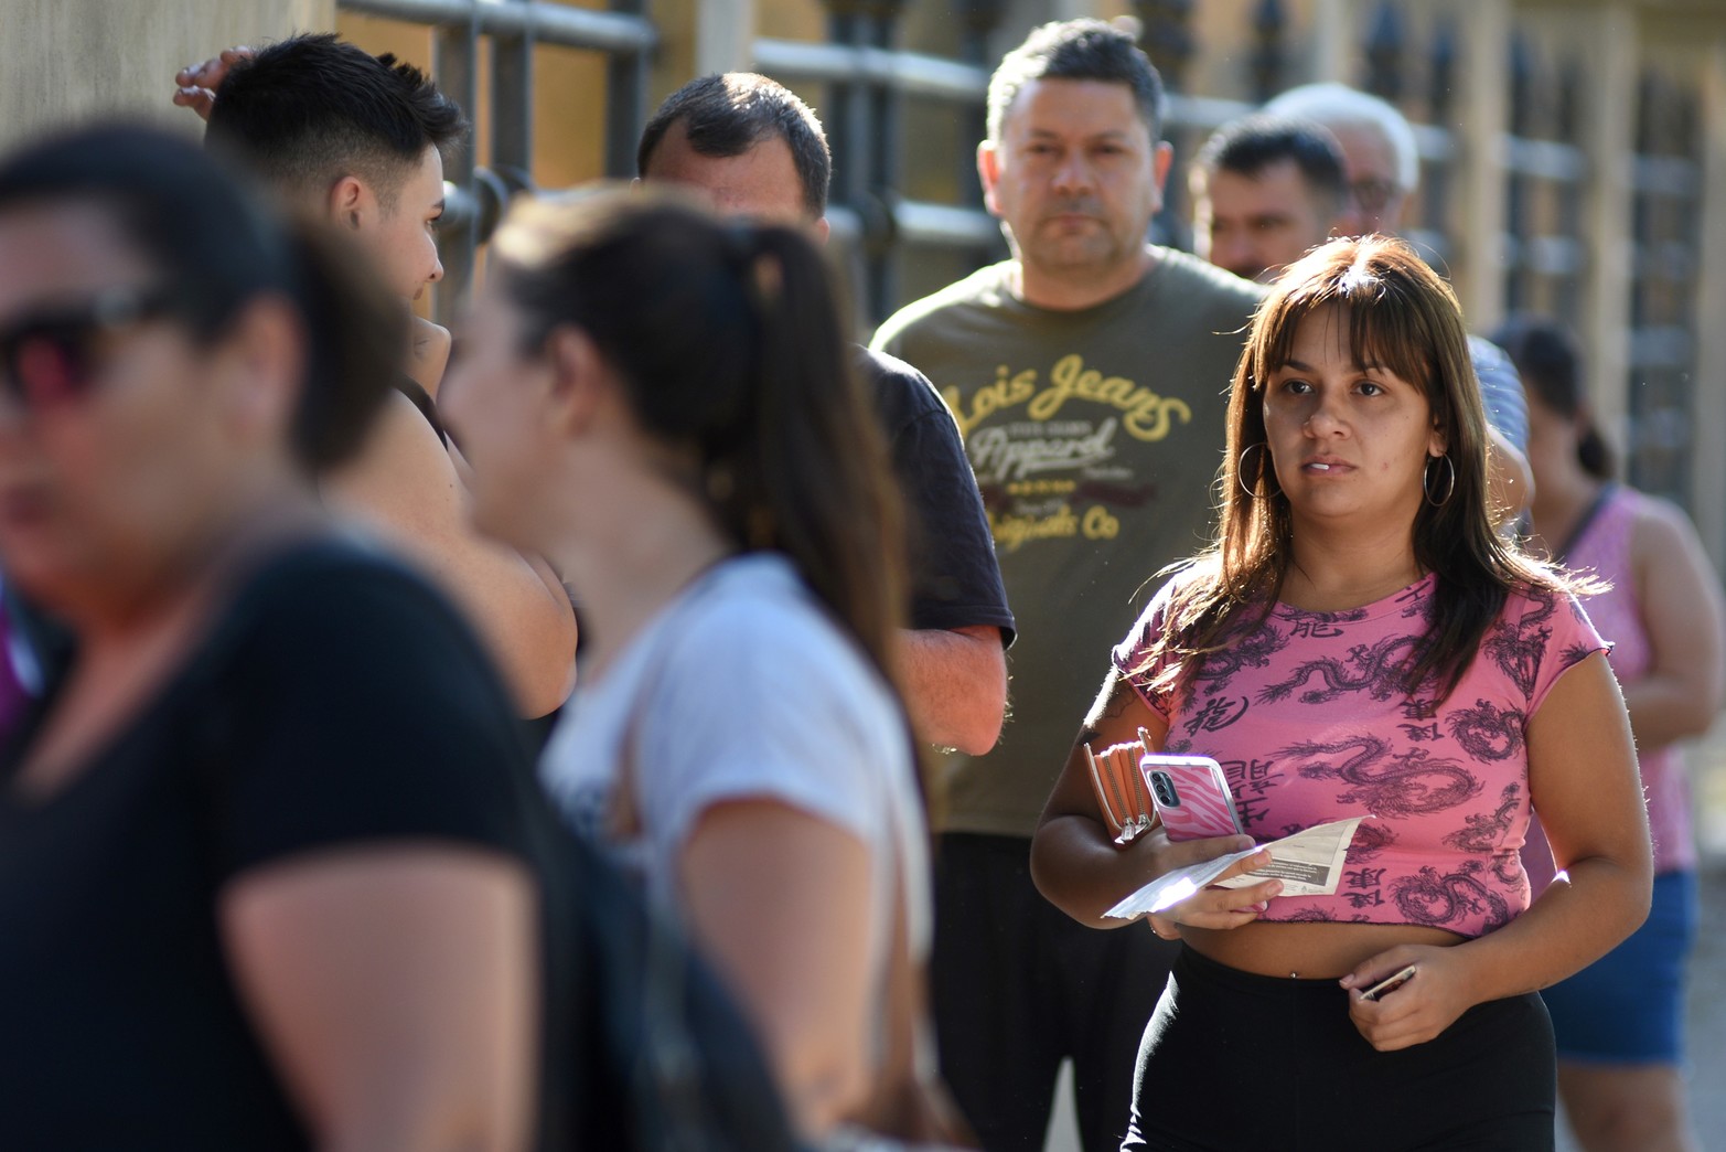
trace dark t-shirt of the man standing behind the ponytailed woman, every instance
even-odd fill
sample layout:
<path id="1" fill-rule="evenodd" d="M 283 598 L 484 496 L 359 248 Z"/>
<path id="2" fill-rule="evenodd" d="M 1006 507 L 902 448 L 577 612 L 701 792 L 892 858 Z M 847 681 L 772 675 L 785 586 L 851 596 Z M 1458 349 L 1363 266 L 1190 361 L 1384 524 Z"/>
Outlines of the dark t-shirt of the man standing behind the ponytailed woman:
<path id="1" fill-rule="evenodd" d="M 1015 625 L 994 558 L 994 535 L 965 442 L 929 378 L 884 352 L 858 349 L 892 451 L 910 522 L 911 627 L 994 625 L 1011 644 Z"/>

